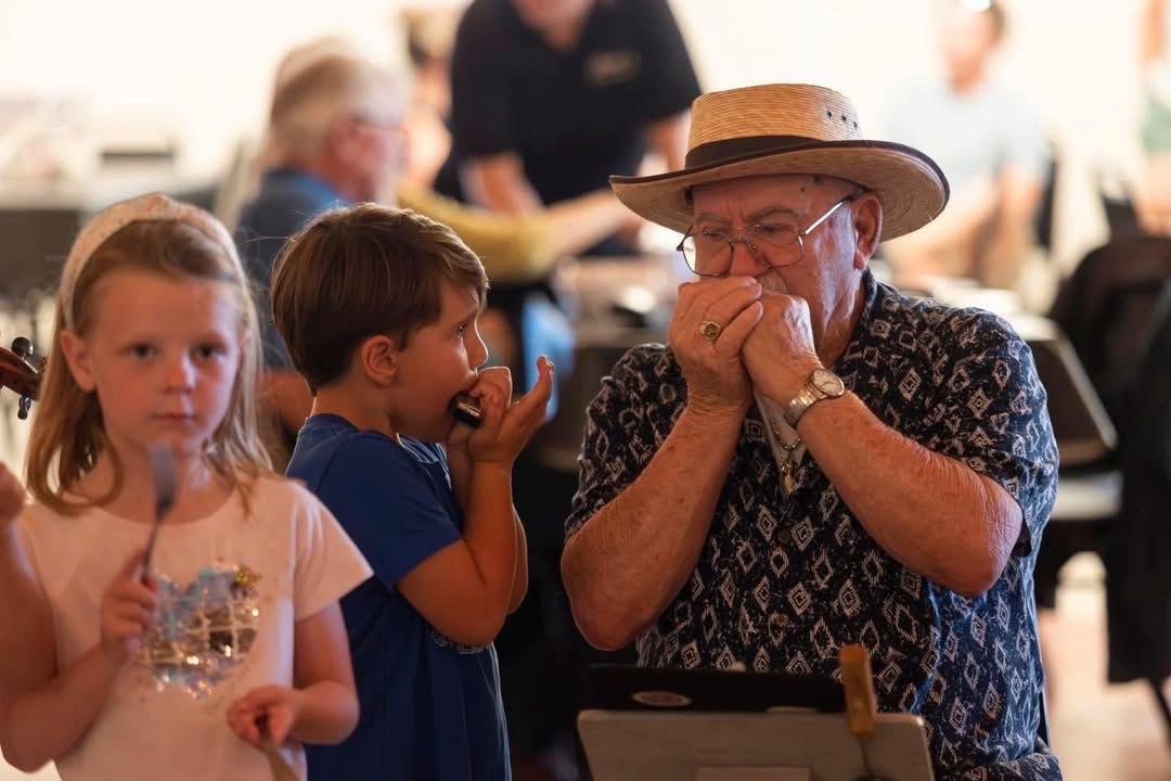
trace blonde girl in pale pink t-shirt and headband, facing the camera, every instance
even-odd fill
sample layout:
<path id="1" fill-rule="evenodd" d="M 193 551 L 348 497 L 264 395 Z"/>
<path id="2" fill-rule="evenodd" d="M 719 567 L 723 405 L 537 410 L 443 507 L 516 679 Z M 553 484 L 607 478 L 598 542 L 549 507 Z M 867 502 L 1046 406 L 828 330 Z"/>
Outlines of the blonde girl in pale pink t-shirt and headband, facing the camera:
<path id="1" fill-rule="evenodd" d="M 256 310 L 227 232 L 159 194 L 105 210 L 66 261 L 53 344 L 34 501 L 0 560 L 33 595 L 0 595 L 26 628 L 0 660 L 5 756 L 66 781 L 303 777 L 301 742 L 357 720 L 337 600 L 370 569 L 268 468 Z M 176 495 L 144 574 L 158 444 Z"/>

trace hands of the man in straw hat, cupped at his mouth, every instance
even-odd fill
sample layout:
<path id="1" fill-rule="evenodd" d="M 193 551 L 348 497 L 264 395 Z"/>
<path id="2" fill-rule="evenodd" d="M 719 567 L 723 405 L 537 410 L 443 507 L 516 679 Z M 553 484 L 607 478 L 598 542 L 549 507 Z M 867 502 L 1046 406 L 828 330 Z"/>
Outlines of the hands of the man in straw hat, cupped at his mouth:
<path id="1" fill-rule="evenodd" d="M 717 338 L 700 334 L 704 321 L 721 327 Z M 700 412 L 742 415 L 753 386 L 788 404 L 821 365 L 806 301 L 751 276 L 682 285 L 667 340 Z"/>

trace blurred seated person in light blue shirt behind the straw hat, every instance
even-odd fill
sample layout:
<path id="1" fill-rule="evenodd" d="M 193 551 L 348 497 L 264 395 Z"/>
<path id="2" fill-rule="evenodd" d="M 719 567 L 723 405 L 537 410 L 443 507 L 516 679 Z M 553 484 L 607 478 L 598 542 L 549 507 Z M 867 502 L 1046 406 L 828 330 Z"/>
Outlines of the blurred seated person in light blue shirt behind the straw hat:
<path id="1" fill-rule="evenodd" d="M 929 287 L 966 276 L 1013 288 L 1034 246 L 1048 151 L 1033 109 L 998 78 L 1006 14 L 999 0 L 936 0 L 943 70 L 886 107 L 882 136 L 923 149 L 947 174 L 952 200 L 934 222 L 884 245 L 896 281 Z"/>

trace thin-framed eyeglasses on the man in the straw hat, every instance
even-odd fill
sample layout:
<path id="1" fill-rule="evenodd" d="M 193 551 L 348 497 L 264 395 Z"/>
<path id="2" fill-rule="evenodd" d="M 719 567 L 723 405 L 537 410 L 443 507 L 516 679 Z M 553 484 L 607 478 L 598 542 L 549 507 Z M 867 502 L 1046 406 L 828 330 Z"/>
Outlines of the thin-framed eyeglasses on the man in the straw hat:
<path id="1" fill-rule="evenodd" d="M 731 231 L 704 228 L 684 234 L 683 241 L 676 247 L 687 261 L 687 268 L 699 276 L 724 276 L 732 268 L 732 254 L 737 241 L 744 241 L 748 252 L 756 260 L 763 260 L 774 268 L 794 266 L 804 258 L 804 239 L 814 228 L 824 222 L 841 208 L 842 204 L 857 198 L 857 193 L 847 196 L 829 207 L 824 214 L 813 221 L 804 231 L 783 220 L 762 220 L 748 227 L 741 235 Z"/>

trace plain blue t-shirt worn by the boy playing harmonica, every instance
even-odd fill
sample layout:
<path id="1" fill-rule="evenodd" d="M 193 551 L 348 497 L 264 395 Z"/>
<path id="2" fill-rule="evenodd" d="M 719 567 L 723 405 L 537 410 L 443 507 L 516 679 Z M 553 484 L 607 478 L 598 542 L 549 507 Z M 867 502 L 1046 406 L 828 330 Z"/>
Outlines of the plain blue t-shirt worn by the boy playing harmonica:
<path id="1" fill-rule="evenodd" d="M 309 777 L 509 779 L 495 649 L 443 637 L 395 587 L 463 533 L 443 448 L 316 415 L 288 474 L 317 494 L 375 573 L 341 601 L 362 715 L 342 744 L 307 747 Z"/>

